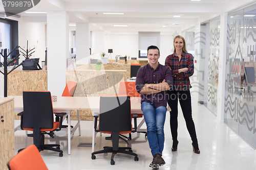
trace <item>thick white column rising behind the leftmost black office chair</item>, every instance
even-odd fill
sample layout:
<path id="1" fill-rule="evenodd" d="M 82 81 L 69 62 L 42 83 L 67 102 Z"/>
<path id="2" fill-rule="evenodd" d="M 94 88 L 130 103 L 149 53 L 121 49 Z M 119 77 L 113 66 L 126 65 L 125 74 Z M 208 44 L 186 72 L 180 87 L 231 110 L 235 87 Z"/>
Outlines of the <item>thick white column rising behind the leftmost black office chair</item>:
<path id="1" fill-rule="evenodd" d="M 47 11 L 47 86 L 61 96 L 66 86 L 69 57 L 69 16 L 66 11 Z"/>

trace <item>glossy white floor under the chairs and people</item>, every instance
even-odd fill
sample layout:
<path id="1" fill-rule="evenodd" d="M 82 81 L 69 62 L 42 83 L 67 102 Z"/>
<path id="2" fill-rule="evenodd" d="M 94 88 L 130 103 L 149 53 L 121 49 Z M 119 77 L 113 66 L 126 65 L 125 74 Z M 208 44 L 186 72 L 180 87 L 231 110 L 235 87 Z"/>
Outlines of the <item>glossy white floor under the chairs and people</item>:
<path id="1" fill-rule="evenodd" d="M 187 132 L 181 110 L 179 112 L 179 145 L 178 151 L 172 152 L 172 136 L 169 129 L 169 112 L 166 114 L 165 122 L 165 146 L 163 158 L 166 164 L 159 169 L 256 169 L 256 151 L 250 147 L 242 138 L 229 129 L 225 124 L 219 123 L 216 116 L 205 106 L 193 102 L 193 118 L 198 135 L 201 154 L 193 153 L 191 140 Z M 73 122 L 75 123 L 75 122 Z M 19 120 L 15 120 L 15 125 Z M 78 131 L 71 140 L 71 155 L 68 155 L 67 135 L 65 131 L 56 132 L 54 139 L 48 138 L 46 143 L 60 143 L 63 157 L 53 151 L 42 151 L 49 170 L 70 169 L 152 169 L 148 167 L 152 161 L 150 148 L 144 134 L 134 133 L 130 142 L 133 152 L 138 154 L 139 161 L 134 161 L 133 156 L 117 154 L 114 158 L 115 165 L 110 164 L 111 154 L 96 155 L 91 159 L 92 148 L 77 147 L 80 142 L 92 141 L 92 121 L 81 121 L 81 136 Z M 101 150 L 105 145 L 111 145 L 105 136 L 96 136 L 95 151 Z M 33 143 L 31 137 L 26 137 L 25 131 L 15 132 L 15 153 Z M 120 145 L 125 142 L 120 140 Z"/>

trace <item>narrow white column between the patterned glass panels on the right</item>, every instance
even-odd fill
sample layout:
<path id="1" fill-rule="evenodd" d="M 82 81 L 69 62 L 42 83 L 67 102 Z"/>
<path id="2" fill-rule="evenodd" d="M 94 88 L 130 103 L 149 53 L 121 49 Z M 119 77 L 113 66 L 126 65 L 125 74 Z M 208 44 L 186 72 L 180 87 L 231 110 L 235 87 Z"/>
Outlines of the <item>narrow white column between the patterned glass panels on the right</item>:
<path id="1" fill-rule="evenodd" d="M 220 29 L 220 59 L 219 59 L 219 82 L 218 82 L 218 108 L 217 119 L 224 122 L 225 104 L 225 72 L 226 72 L 226 51 L 227 51 L 227 13 L 221 14 Z"/>

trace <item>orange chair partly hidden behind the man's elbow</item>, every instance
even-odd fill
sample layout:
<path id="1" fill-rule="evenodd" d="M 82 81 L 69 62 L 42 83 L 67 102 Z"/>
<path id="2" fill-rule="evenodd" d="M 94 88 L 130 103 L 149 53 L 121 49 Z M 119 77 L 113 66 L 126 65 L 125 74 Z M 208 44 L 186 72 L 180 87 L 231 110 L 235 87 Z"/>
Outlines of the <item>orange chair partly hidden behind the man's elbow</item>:
<path id="1" fill-rule="evenodd" d="M 136 84 L 135 82 L 120 82 L 119 83 L 119 91 L 118 91 L 118 95 L 129 95 L 131 97 L 134 98 L 138 98 L 140 97 L 140 93 L 137 92 L 136 90 Z M 135 127 L 133 128 L 132 132 L 137 132 L 137 118 L 138 117 L 143 117 L 143 114 L 132 114 L 132 118 L 134 118 L 134 122 L 135 122 Z M 140 132 L 139 132 L 140 133 Z M 141 132 L 141 133 L 145 133 L 146 132 Z M 131 134 L 129 134 L 129 139 L 132 139 Z"/>

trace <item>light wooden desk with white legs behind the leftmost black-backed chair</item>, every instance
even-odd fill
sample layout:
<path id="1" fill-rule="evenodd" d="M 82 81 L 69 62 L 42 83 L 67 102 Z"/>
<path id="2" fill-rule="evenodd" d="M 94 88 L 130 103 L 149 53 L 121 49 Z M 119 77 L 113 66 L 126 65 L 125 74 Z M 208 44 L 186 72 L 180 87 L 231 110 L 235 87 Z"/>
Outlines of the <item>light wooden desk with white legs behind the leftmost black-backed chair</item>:
<path id="1" fill-rule="evenodd" d="M 52 102 L 53 111 L 55 113 L 67 112 L 67 116 L 68 116 L 68 154 L 69 155 L 71 154 L 71 143 L 70 143 L 71 136 L 74 135 L 77 128 L 79 130 L 79 136 L 81 136 L 79 109 L 86 102 L 88 102 L 87 98 L 62 97 L 62 96 L 57 96 L 57 102 Z M 15 112 L 23 111 L 23 96 L 14 96 L 14 110 L 15 110 Z M 71 131 L 71 126 L 70 126 L 70 110 L 77 110 L 77 124 L 72 129 L 72 131 Z M 17 129 L 18 129 L 18 127 L 15 128 L 15 131 Z"/>

